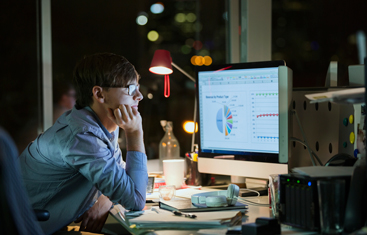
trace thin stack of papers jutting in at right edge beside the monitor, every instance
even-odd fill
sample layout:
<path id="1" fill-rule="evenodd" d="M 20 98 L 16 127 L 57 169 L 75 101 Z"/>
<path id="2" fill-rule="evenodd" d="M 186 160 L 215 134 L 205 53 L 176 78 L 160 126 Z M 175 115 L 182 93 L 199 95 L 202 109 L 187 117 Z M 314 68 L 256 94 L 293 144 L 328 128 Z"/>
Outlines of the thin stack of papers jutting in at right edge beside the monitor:
<path id="1" fill-rule="evenodd" d="M 311 100 L 311 103 L 317 102 L 334 102 L 345 104 L 358 104 L 364 103 L 365 88 L 352 88 L 339 91 L 329 91 L 322 93 L 314 93 L 305 95 L 307 99 Z"/>

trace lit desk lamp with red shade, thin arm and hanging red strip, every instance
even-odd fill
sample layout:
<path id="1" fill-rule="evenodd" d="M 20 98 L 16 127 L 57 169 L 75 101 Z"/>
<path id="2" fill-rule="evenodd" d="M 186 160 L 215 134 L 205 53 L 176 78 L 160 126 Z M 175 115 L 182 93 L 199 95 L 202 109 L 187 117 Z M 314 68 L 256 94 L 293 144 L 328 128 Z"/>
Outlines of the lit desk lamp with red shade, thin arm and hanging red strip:
<path id="1" fill-rule="evenodd" d="M 188 77 L 191 81 L 196 82 L 195 78 L 190 76 L 183 69 L 181 69 L 175 63 L 172 62 L 171 53 L 169 51 L 156 50 L 153 56 L 152 63 L 150 64 L 149 71 L 151 73 L 164 75 L 164 97 L 166 98 L 170 96 L 169 74 L 173 73 L 172 65 L 178 71 L 180 71 L 186 77 Z M 192 133 L 191 152 L 194 152 L 195 127 L 196 127 L 195 124 L 196 124 L 196 96 L 195 96 L 195 104 L 194 104 L 194 132 Z"/>

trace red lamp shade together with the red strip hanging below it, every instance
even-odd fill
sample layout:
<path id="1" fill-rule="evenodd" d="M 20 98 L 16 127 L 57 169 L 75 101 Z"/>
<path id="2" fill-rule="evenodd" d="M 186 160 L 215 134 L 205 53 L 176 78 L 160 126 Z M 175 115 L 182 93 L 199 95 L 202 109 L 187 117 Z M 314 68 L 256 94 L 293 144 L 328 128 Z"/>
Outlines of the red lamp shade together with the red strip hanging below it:
<path id="1" fill-rule="evenodd" d="M 171 63 L 172 58 L 169 51 L 156 50 L 149 68 L 149 71 L 152 73 L 164 75 L 164 96 L 166 98 L 168 98 L 171 93 L 168 76 L 168 74 L 173 72 Z"/>

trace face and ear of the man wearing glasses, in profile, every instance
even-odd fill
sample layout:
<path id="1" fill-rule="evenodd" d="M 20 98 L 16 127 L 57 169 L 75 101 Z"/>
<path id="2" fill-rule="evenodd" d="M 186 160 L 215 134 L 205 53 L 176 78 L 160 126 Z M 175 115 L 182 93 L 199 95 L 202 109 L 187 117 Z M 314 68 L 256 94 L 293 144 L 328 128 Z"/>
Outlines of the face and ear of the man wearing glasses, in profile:
<path id="1" fill-rule="evenodd" d="M 126 104 L 132 108 L 138 109 L 139 101 L 143 99 L 143 95 L 139 91 L 138 81 L 131 81 L 127 84 L 127 86 L 129 85 L 137 86 L 132 95 L 129 95 L 129 89 L 133 87 L 113 87 L 108 88 L 108 91 L 104 90 L 105 104 L 108 108 L 114 110 L 118 108 L 120 104 Z"/>

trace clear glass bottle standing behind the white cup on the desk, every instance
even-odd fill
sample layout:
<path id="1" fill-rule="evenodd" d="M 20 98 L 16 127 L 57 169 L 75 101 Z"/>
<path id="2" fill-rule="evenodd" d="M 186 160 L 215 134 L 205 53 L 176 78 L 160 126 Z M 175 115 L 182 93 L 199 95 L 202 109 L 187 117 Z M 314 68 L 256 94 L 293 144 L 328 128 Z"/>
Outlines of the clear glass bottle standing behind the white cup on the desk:
<path id="1" fill-rule="evenodd" d="M 180 158 L 180 144 L 173 134 L 172 122 L 162 120 L 161 125 L 166 132 L 159 143 L 159 169 L 163 171 L 163 160 Z"/>

